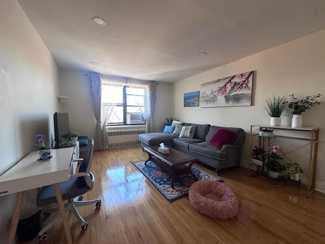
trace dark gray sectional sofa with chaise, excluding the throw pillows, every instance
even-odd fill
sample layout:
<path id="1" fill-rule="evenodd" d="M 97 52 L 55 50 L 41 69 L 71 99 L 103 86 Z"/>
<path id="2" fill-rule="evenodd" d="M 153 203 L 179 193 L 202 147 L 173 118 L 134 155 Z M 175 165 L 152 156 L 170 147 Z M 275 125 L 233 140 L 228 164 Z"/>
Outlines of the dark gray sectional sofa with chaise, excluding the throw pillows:
<path id="1" fill-rule="evenodd" d="M 245 132 L 241 128 L 227 128 L 236 134 L 231 144 L 223 145 L 221 149 L 209 144 L 212 136 L 221 127 L 184 123 L 184 126 L 196 125 L 193 138 L 178 137 L 169 133 L 147 133 L 139 135 L 142 147 L 158 146 L 161 142 L 179 151 L 198 158 L 202 163 L 215 168 L 217 173 L 224 168 L 240 164 Z"/>

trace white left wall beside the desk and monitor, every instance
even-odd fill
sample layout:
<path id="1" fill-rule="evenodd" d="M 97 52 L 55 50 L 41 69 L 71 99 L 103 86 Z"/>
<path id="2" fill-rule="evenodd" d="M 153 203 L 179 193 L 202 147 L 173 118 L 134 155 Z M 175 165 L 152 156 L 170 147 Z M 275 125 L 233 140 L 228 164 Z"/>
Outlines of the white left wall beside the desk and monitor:
<path id="1" fill-rule="evenodd" d="M 52 140 L 57 67 L 16 0 L 0 2 L 0 173 L 30 151 L 38 133 Z M 35 199 L 35 191 L 24 204 Z M 15 195 L 0 197 L 0 243 L 5 243 Z"/>

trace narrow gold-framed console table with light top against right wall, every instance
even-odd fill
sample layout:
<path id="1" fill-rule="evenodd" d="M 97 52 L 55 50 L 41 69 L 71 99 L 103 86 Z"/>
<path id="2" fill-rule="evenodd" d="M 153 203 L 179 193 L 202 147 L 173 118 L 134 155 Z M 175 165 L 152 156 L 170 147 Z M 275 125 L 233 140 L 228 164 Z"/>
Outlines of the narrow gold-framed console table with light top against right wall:
<path id="1" fill-rule="evenodd" d="M 296 133 L 302 133 L 307 132 L 309 137 L 299 137 L 299 136 L 286 136 L 286 135 L 274 135 L 274 137 L 282 137 L 282 138 L 290 138 L 290 139 L 296 139 L 296 140 L 306 140 L 308 143 L 306 145 L 303 145 L 298 148 L 294 148 L 289 153 L 298 150 L 302 147 L 310 145 L 310 151 L 309 151 L 309 169 L 308 169 L 308 184 L 307 184 L 307 197 L 309 198 L 313 191 L 315 190 L 315 178 L 316 178 L 316 169 L 317 169 L 317 152 L 318 152 L 318 136 L 319 136 L 319 128 L 317 127 L 290 127 L 290 126 L 265 126 L 265 125 L 251 125 L 250 126 L 250 146 L 249 146 L 249 175 L 251 175 L 251 166 L 252 166 L 252 159 L 251 159 L 251 153 L 252 153 L 252 138 L 255 136 L 258 136 L 258 144 L 259 147 L 261 147 L 262 144 L 262 138 L 259 137 L 259 134 L 254 134 L 254 129 L 257 129 L 258 132 L 262 128 L 267 128 L 270 130 L 290 130 Z M 264 165 L 264 164 L 263 164 Z M 264 170 L 264 166 L 262 171 Z"/>

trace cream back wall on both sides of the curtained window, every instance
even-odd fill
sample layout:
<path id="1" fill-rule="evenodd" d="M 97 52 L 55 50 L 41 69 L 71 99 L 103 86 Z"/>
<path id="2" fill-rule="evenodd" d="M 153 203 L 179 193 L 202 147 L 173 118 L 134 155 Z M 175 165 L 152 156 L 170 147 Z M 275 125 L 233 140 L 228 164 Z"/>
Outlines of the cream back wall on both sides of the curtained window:
<path id="1" fill-rule="evenodd" d="M 93 138 L 96 120 L 91 106 L 88 78 L 84 74 L 85 72 L 77 70 L 60 70 L 59 93 L 69 98 L 60 102 L 60 110 L 69 112 L 70 131 Z M 158 83 L 153 118 L 155 131 L 163 130 L 161 123 L 172 113 L 171 88 L 170 83 Z"/>

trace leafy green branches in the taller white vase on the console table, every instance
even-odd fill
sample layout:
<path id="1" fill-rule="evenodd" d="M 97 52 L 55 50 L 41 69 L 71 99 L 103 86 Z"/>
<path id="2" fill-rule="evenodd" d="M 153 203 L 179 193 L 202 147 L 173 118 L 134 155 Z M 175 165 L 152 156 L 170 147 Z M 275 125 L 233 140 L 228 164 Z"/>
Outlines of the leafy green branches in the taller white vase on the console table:
<path id="1" fill-rule="evenodd" d="M 291 102 L 285 101 L 283 104 L 287 104 L 288 108 L 290 108 L 293 114 L 302 114 L 307 109 L 311 109 L 313 106 L 320 104 L 320 102 L 317 101 L 317 98 L 320 98 L 320 94 L 313 95 L 313 96 L 307 96 L 304 99 L 298 99 L 295 94 L 289 95 L 291 98 Z"/>

